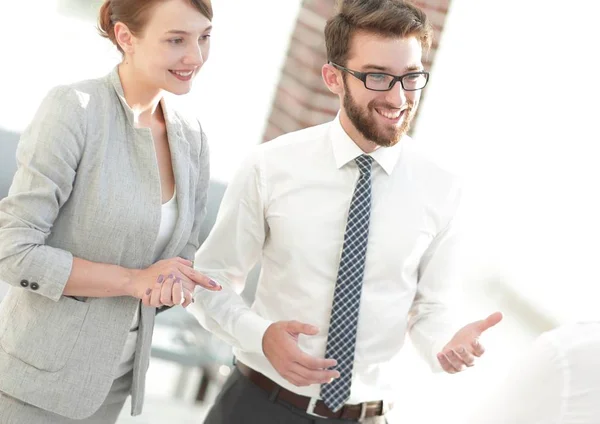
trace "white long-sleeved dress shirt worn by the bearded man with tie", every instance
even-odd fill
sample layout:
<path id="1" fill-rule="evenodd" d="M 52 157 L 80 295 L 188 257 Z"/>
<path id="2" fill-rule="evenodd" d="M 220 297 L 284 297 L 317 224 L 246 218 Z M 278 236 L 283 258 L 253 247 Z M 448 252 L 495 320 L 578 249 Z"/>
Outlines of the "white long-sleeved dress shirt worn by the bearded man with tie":
<path id="1" fill-rule="evenodd" d="M 362 150 L 334 121 L 257 146 L 230 182 L 195 268 L 223 285 L 199 290 L 190 311 L 234 346 L 236 357 L 298 394 L 263 354 L 267 327 L 297 320 L 319 328 L 300 348 L 324 357 L 346 219 Z M 372 211 L 350 404 L 393 399 L 394 372 L 407 330 L 422 356 L 450 341 L 447 297 L 453 285 L 458 179 L 405 137 L 371 154 Z M 261 262 L 254 303 L 239 292 Z M 409 317 L 410 315 L 410 317 Z"/>

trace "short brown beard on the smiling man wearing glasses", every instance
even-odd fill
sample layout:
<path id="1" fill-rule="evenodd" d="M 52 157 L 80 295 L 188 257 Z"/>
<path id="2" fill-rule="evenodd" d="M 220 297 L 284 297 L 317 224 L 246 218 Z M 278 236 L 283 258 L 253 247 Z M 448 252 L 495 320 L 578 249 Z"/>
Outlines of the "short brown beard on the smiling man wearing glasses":
<path id="1" fill-rule="evenodd" d="M 387 131 L 382 131 L 380 125 L 377 125 L 374 114 L 378 113 L 375 107 L 395 109 L 395 106 L 391 106 L 386 103 L 375 103 L 375 100 L 371 100 L 366 108 L 360 107 L 355 101 L 348 86 L 346 86 L 346 92 L 344 94 L 344 110 L 350 118 L 350 121 L 354 127 L 365 137 L 367 140 L 372 141 L 381 147 L 390 147 L 400 141 L 400 139 L 408 133 L 410 130 L 410 124 L 413 120 L 415 102 L 407 99 L 408 107 L 404 111 L 402 117 L 402 124 L 399 127 L 388 126 Z"/>

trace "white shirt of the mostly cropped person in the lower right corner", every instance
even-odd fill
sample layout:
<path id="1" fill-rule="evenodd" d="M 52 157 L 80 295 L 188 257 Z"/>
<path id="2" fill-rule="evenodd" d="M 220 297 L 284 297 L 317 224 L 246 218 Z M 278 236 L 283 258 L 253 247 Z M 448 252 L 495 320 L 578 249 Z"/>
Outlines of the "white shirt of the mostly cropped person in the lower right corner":
<path id="1" fill-rule="evenodd" d="M 600 423 L 600 322 L 539 336 L 468 423 Z"/>

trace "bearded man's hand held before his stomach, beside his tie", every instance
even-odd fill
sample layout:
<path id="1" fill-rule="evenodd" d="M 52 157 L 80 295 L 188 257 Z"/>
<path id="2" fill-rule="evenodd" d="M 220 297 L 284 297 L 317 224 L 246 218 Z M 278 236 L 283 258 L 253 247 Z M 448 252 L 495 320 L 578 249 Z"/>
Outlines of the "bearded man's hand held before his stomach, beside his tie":
<path id="1" fill-rule="evenodd" d="M 296 386 L 326 384 L 340 373 L 328 368 L 337 364 L 335 359 L 320 359 L 308 355 L 298 347 L 298 336 L 314 336 L 319 329 L 298 321 L 278 321 L 269 326 L 263 336 L 263 352 L 277 372 Z"/>

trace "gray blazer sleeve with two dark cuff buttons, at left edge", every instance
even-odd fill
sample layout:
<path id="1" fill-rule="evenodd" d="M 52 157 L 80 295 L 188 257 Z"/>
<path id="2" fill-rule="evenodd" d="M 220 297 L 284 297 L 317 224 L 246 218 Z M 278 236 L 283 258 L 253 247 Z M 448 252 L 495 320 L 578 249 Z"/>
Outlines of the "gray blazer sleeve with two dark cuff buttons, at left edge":
<path id="1" fill-rule="evenodd" d="M 45 242 L 73 188 L 86 136 L 85 96 L 65 86 L 47 94 L 21 136 L 17 171 L 0 202 L 0 279 L 54 301 L 73 256 Z"/>

